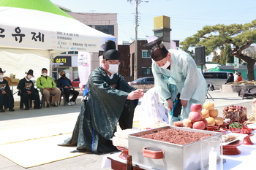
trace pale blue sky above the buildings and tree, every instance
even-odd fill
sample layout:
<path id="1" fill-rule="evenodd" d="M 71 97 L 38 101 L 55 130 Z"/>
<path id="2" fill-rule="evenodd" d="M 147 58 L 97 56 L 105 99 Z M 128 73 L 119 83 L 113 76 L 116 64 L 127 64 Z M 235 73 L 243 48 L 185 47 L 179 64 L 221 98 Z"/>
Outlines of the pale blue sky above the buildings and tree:
<path id="1" fill-rule="evenodd" d="M 50 0 L 72 12 L 117 13 L 118 41 L 135 38 L 135 0 Z M 140 1 L 140 0 L 138 0 Z M 255 0 L 147 0 L 138 5 L 138 39 L 154 36 L 154 17 L 170 17 L 171 40 L 184 41 L 203 26 L 251 23 Z"/>

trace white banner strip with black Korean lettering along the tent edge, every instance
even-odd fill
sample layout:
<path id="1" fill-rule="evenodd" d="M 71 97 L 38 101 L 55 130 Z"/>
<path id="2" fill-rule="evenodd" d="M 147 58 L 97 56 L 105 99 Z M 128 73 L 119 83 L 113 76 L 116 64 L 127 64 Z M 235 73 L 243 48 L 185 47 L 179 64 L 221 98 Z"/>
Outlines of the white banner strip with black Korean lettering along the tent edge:
<path id="1" fill-rule="evenodd" d="M 102 50 L 106 40 L 103 37 L 74 34 L 71 31 L 46 31 L 0 23 L 1 47 L 98 52 Z"/>

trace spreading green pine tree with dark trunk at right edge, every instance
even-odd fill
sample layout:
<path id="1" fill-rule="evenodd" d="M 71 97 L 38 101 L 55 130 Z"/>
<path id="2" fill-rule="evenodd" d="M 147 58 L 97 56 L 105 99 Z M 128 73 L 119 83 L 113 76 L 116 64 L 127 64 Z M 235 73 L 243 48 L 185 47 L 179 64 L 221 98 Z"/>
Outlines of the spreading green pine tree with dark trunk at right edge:
<path id="1" fill-rule="evenodd" d="M 217 49 L 225 48 L 225 45 L 232 45 L 230 55 L 235 56 L 247 63 L 248 80 L 255 80 L 254 65 L 256 58 L 242 53 L 243 50 L 256 42 L 256 20 L 252 23 L 231 24 L 225 26 L 218 24 L 216 26 L 204 26 L 197 34 L 187 37 L 181 42 L 181 49 L 189 52 L 189 47 L 206 47 L 206 55 Z"/>

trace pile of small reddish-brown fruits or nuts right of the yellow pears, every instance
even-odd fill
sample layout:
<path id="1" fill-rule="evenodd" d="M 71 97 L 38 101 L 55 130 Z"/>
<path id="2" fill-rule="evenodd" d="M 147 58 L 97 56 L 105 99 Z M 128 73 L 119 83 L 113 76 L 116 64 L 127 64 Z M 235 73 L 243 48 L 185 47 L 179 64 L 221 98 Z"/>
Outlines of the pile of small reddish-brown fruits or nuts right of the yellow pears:
<path id="1" fill-rule="evenodd" d="M 230 105 L 229 107 L 223 107 L 223 117 L 230 119 L 230 122 L 247 120 L 247 109 L 242 106 Z"/>

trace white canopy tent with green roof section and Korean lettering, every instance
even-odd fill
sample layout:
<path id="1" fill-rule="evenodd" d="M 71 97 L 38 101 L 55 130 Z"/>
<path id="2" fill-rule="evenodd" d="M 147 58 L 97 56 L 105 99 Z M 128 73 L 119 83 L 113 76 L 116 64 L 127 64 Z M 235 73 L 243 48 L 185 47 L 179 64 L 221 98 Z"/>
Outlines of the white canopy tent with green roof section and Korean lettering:
<path id="1" fill-rule="evenodd" d="M 75 20 L 49 0 L 0 2 L 0 67 L 5 76 L 21 79 L 29 69 L 35 78 L 50 57 L 64 51 L 98 52 L 108 39 L 104 34 Z"/>

